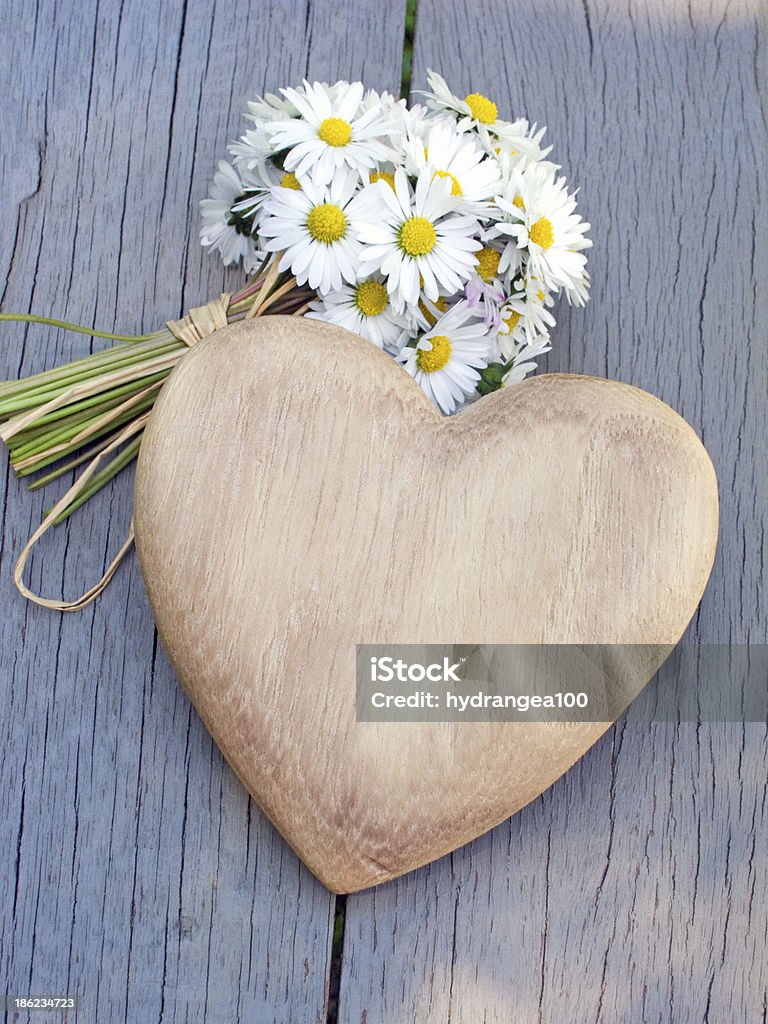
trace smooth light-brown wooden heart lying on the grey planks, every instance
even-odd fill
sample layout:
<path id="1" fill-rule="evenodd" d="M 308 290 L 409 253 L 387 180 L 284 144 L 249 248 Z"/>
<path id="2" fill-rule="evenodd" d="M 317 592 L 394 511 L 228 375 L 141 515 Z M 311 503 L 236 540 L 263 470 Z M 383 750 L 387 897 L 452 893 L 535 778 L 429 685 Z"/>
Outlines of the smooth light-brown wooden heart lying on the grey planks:
<path id="1" fill-rule="evenodd" d="M 541 376 L 447 419 L 369 342 L 281 316 L 181 360 L 136 475 L 178 678 L 336 892 L 486 831 L 609 724 L 358 722 L 357 643 L 674 645 L 717 517 L 705 449 L 643 391 Z"/>

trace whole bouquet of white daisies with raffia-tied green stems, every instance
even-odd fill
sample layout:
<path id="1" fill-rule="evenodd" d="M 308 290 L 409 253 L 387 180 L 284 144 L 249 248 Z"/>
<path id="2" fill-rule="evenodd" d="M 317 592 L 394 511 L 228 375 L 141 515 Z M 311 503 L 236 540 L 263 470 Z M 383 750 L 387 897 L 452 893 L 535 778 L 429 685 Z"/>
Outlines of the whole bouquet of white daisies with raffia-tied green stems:
<path id="1" fill-rule="evenodd" d="M 133 460 L 165 378 L 227 324 L 290 313 L 346 328 L 445 415 L 536 368 L 556 298 L 588 298 L 590 225 L 547 159 L 545 129 L 502 120 L 479 93 L 454 95 L 435 73 L 428 82 L 410 106 L 359 82 L 304 82 L 249 102 L 248 127 L 201 203 L 201 241 L 242 265 L 239 292 L 144 336 L 0 313 L 119 342 L 0 384 L 0 437 L 17 474 L 45 470 L 39 487 L 87 463 L 19 558 L 28 597 L 32 544 Z"/>

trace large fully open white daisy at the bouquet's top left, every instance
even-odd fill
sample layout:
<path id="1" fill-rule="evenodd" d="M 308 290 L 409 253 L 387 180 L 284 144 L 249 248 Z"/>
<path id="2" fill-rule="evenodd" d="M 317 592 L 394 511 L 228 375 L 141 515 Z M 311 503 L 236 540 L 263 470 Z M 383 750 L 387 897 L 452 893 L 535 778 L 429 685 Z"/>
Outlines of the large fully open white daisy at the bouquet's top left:
<path id="1" fill-rule="evenodd" d="M 395 130 L 391 112 L 379 105 L 361 110 L 361 82 L 345 84 L 335 95 L 329 86 L 304 83 L 304 91 L 283 89 L 300 117 L 265 125 L 272 146 L 288 150 L 285 169 L 298 178 L 310 175 L 317 185 L 327 184 L 343 167 L 360 176 L 376 165 L 396 158 L 389 143 Z"/>

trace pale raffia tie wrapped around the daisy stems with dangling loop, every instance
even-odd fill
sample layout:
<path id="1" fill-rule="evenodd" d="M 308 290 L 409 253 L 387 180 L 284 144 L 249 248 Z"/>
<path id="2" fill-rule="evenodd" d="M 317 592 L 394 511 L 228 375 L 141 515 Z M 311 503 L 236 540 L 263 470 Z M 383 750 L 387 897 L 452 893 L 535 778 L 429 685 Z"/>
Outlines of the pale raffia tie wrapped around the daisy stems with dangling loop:
<path id="1" fill-rule="evenodd" d="M 222 327 L 226 327 L 226 310 L 229 305 L 229 293 L 222 292 L 217 299 L 212 299 L 211 302 L 206 303 L 204 306 L 197 306 L 195 309 L 190 309 L 186 316 L 182 316 L 178 321 L 167 321 L 166 327 L 171 332 L 174 338 L 178 338 L 179 341 L 183 341 L 185 345 L 190 348 L 193 345 L 197 345 L 199 341 L 207 338 L 214 331 L 220 330 Z M 43 608 L 53 608 L 56 611 L 80 611 L 81 608 L 86 607 L 91 601 L 94 601 L 101 591 L 106 587 L 110 580 L 112 580 L 115 571 L 120 565 L 121 561 L 131 549 L 133 544 L 133 520 L 131 520 L 130 527 L 128 529 L 128 537 L 125 539 L 123 546 L 117 553 L 113 561 L 108 566 L 104 574 L 85 593 L 81 594 L 80 597 L 75 598 L 72 601 L 59 601 L 57 599 L 51 599 L 47 597 L 41 597 L 39 594 L 35 594 L 29 589 L 29 587 L 24 582 L 24 570 L 29 561 L 30 555 L 32 554 L 32 549 L 48 529 L 53 525 L 56 516 L 62 512 L 70 502 L 74 501 L 75 498 L 83 490 L 88 480 L 93 476 L 93 474 L 98 469 L 101 461 L 115 449 L 119 447 L 124 441 L 128 440 L 129 437 L 138 433 L 139 430 L 143 429 L 150 414 L 146 413 L 141 416 L 134 423 L 129 423 L 118 436 L 112 441 L 108 447 L 99 452 L 99 454 L 88 464 L 86 469 L 77 478 L 75 483 L 70 487 L 67 494 L 59 499 L 58 502 L 53 506 L 48 515 L 43 519 L 38 528 L 32 535 L 30 540 L 25 545 L 22 550 L 16 564 L 13 567 L 13 583 L 15 584 L 17 590 L 30 601 L 35 604 L 39 604 Z"/>

